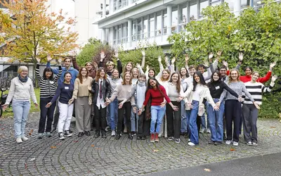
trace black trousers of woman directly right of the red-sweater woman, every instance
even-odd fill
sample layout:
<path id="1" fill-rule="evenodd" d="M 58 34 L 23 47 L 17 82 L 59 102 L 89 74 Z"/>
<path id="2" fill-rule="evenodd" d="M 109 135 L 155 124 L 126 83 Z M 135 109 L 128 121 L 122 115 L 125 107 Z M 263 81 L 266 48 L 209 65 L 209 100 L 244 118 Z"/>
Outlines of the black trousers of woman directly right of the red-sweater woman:
<path id="1" fill-rule="evenodd" d="M 168 137 L 178 139 L 181 136 L 181 102 L 171 101 L 171 103 L 178 106 L 178 111 L 174 111 L 169 105 L 166 106 Z"/>

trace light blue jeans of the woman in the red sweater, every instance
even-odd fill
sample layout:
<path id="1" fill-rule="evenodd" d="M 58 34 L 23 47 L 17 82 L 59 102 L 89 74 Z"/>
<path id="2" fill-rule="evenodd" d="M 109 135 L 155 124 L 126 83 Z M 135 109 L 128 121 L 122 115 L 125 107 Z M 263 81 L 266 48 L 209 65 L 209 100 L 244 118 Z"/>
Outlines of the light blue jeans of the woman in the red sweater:
<path id="1" fill-rule="evenodd" d="M 150 123 L 150 134 L 157 133 L 159 134 L 162 119 L 166 113 L 166 106 L 161 108 L 161 106 L 151 106 L 151 123 Z M 156 131 L 155 131 L 155 123 L 157 123 Z"/>

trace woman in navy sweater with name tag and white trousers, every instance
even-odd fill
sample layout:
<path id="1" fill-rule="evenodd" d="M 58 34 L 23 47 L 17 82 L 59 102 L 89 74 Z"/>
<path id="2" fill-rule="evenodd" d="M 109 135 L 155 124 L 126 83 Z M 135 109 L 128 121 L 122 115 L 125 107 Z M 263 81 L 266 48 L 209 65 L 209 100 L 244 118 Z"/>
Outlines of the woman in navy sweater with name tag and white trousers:
<path id="1" fill-rule="evenodd" d="M 60 109 L 60 116 L 58 118 L 58 138 L 62 140 L 65 139 L 65 136 L 72 136 L 69 130 L 73 112 L 72 94 L 74 89 L 74 85 L 71 83 L 71 73 L 66 72 L 64 78 L 65 80 L 63 82 L 58 83 L 55 96 L 53 96 L 51 102 L 46 105 L 46 108 L 49 108 L 57 101 L 58 97 L 60 97 L 60 99 L 58 99 L 58 107 Z"/>

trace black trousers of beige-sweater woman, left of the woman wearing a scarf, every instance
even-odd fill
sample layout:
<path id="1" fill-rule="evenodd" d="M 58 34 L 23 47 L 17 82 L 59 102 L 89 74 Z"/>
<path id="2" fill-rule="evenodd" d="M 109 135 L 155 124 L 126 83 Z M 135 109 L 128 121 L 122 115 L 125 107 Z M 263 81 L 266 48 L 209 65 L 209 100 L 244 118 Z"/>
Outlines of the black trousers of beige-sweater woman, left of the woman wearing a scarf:
<path id="1" fill-rule="evenodd" d="M 121 134 L 122 131 L 124 112 L 126 117 L 127 131 L 128 133 L 131 133 L 131 102 L 126 102 L 123 104 L 122 108 L 118 109 L 117 134 Z"/>

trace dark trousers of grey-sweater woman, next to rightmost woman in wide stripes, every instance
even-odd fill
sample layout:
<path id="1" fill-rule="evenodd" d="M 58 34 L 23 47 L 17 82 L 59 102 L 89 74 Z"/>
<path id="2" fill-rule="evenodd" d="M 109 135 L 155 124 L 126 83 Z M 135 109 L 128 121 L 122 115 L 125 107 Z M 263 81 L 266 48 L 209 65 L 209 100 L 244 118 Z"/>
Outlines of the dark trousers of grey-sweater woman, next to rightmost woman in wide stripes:
<path id="1" fill-rule="evenodd" d="M 227 140 L 239 142 L 240 122 L 241 122 L 241 103 L 237 100 L 226 101 L 226 136 Z M 234 129 L 233 129 L 234 126 Z"/>

